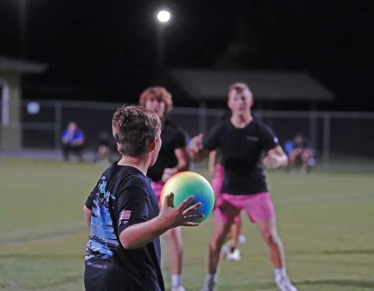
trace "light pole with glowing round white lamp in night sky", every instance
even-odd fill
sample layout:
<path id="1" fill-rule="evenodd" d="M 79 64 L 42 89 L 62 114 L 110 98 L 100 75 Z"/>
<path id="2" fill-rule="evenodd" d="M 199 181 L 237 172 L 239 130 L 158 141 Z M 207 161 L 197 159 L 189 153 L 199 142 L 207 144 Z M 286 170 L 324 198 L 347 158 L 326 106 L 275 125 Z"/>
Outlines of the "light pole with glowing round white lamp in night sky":
<path id="1" fill-rule="evenodd" d="M 165 62 L 165 40 L 164 40 L 164 28 L 165 25 L 170 22 L 171 14 L 166 9 L 158 10 L 156 14 L 157 18 L 157 70 L 162 72 Z"/>

